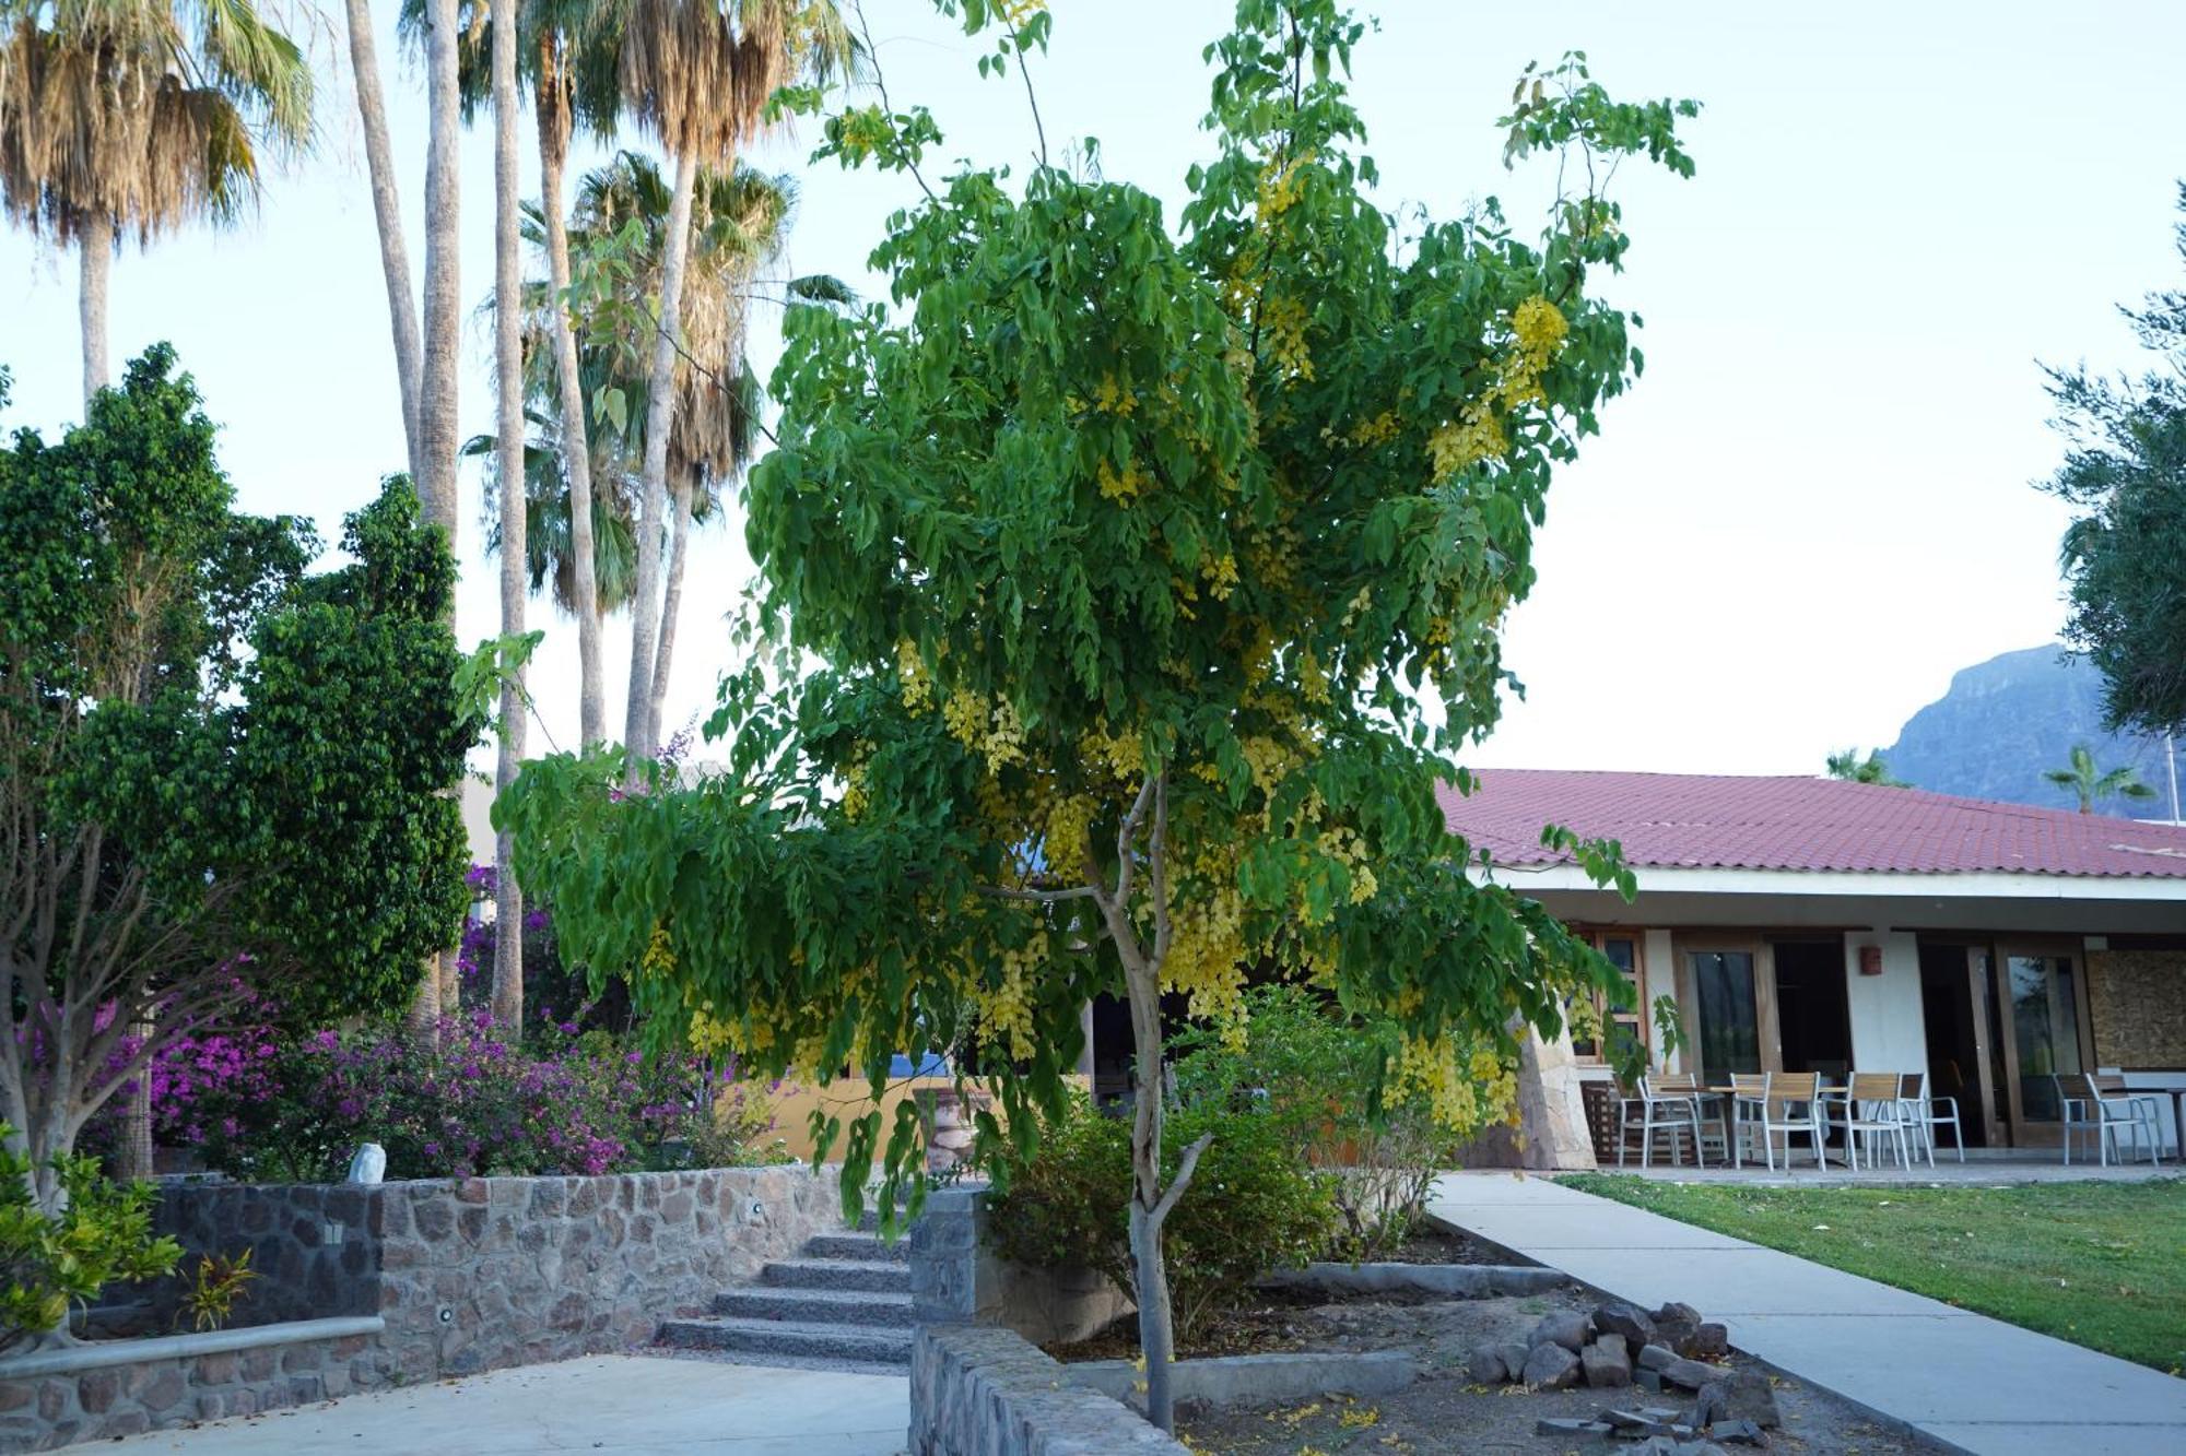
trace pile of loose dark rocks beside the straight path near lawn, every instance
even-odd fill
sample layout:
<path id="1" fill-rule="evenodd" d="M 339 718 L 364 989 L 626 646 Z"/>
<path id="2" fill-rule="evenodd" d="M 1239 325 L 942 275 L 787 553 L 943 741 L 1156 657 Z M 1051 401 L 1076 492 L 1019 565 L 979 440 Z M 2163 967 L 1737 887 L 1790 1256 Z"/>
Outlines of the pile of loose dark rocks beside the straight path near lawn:
<path id="1" fill-rule="evenodd" d="M 1537 1390 L 1642 1386 L 1650 1393 L 1692 1390 L 1692 1410 L 1605 1406 L 1596 1419 L 1541 1421 L 1541 1434 L 1563 1439 L 1640 1441 L 1635 1456 L 1705 1456 L 1703 1441 L 1764 1445 L 1779 1425 L 1775 1393 L 1753 1371 L 1712 1364 L 1729 1353 L 1729 1331 L 1703 1320 L 1692 1305 L 1668 1303 L 1648 1314 L 1613 1301 L 1591 1314 L 1548 1314 L 1526 1342 L 1480 1345 L 1471 1377 L 1484 1386 L 1519 1382 Z"/>

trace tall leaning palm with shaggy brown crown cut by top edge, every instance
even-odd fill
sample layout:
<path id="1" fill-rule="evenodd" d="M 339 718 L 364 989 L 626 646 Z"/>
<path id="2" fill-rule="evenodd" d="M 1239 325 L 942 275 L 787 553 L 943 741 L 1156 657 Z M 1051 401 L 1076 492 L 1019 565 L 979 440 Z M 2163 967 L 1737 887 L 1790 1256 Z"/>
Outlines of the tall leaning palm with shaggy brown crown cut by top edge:
<path id="1" fill-rule="evenodd" d="M 717 175 L 732 175 L 743 144 L 761 131 L 774 92 L 800 77 L 826 79 L 846 68 L 853 44 L 833 0 L 603 0 L 599 15 L 601 31 L 619 37 L 625 105 L 675 162 L 647 361 L 638 579 L 623 715 L 630 776 L 636 778 L 638 765 L 654 752 L 669 420 L 684 345 L 684 271 L 697 173 L 710 166 Z"/>

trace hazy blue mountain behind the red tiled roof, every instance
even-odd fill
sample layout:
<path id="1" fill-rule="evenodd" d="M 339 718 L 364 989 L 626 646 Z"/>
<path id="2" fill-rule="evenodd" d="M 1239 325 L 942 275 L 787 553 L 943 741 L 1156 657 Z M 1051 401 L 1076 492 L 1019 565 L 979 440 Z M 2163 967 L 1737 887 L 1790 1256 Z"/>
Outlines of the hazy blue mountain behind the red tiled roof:
<path id="1" fill-rule="evenodd" d="M 2007 651 L 1952 676 L 1950 691 L 1906 719 L 1882 750 L 1891 774 L 1937 794 L 2009 805 L 2072 809 L 2077 800 L 2042 778 L 2088 743 L 2103 770 L 2129 763 L 2158 798 L 2109 800 L 2099 813 L 2164 818 L 2171 780 L 2162 739 L 2103 732 L 2103 673 L 2057 643 Z"/>

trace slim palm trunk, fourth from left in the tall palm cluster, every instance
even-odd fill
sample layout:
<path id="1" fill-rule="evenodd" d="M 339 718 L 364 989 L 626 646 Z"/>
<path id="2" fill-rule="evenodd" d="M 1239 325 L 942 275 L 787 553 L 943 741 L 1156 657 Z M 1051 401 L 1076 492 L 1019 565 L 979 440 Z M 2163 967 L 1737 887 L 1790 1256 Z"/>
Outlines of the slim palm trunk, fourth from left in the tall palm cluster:
<path id="1" fill-rule="evenodd" d="M 568 162 L 568 90 L 562 81 L 557 48 L 540 44 L 538 81 L 540 129 L 540 212 L 546 216 L 546 271 L 553 300 L 546 317 L 553 326 L 555 376 L 562 387 L 562 474 L 568 479 L 568 549 L 575 557 L 577 597 L 577 724 L 579 748 L 608 737 L 608 689 L 599 651 L 599 564 L 592 560 L 592 446 L 586 435 L 584 378 L 577 361 L 577 330 L 568 306 L 568 219 L 562 216 L 562 168 Z"/>

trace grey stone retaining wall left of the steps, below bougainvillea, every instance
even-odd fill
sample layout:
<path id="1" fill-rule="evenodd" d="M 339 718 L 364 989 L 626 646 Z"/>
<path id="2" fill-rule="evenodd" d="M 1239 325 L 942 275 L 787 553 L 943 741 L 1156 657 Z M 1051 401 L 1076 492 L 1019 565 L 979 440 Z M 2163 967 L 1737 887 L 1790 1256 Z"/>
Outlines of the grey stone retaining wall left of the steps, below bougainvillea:
<path id="1" fill-rule="evenodd" d="M 236 1222 L 227 1222 L 236 1220 Z M 374 1187 L 186 1185 L 162 1224 L 195 1264 L 249 1244 L 247 1318 L 376 1316 L 378 1334 L 11 1379 L 0 1452 L 254 1414 L 350 1390 L 647 1345 L 767 1259 L 842 1226 L 802 1165 Z M 245 1314 L 247 1310 L 247 1314 Z M 223 1331 L 278 1338 L 280 1325 Z"/>

